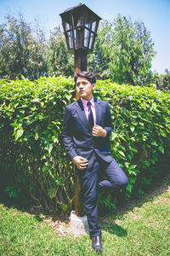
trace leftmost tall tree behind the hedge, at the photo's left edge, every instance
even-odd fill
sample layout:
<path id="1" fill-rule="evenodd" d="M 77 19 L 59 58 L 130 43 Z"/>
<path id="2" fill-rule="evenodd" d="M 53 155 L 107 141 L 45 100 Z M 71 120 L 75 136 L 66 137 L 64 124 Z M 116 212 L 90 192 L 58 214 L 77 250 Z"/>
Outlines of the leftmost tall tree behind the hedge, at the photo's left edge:
<path id="1" fill-rule="evenodd" d="M 23 75 L 34 80 L 47 74 L 45 37 L 38 28 L 35 34 L 22 15 L 18 20 L 7 16 L 7 23 L 0 26 L 0 78 L 20 79 Z"/>

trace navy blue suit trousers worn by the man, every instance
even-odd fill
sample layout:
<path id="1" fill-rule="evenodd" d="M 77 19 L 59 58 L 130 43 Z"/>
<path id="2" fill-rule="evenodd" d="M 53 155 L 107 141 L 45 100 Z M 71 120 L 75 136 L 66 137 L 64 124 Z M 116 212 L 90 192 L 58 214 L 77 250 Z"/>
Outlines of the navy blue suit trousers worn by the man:
<path id="1" fill-rule="evenodd" d="M 99 182 L 99 170 L 105 172 L 107 180 Z M 95 157 L 94 166 L 91 170 L 80 171 L 82 183 L 82 196 L 85 211 L 88 218 L 90 236 L 101 236 L 101 228 L 98 218 L 98 189 L 118 189 L 127 185 L 128 180 L 122 168 L 116 160 L 107 163 L 98 156 Z"/>

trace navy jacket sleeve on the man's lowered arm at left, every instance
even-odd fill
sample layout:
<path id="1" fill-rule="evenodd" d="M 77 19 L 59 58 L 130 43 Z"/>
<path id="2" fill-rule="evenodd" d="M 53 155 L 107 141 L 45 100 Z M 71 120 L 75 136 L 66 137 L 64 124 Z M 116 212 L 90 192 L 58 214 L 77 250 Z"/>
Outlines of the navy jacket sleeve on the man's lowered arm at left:
<path id="1" fill-rule="evenodd" d="M 69 108 L 65 108 L 64 124 L 62 130 L 62 138 L 67 154 L 72 159 L 77 155 L 73 141 L 72 141 L 72 125 L 71 125 L 71 112 Z"/>

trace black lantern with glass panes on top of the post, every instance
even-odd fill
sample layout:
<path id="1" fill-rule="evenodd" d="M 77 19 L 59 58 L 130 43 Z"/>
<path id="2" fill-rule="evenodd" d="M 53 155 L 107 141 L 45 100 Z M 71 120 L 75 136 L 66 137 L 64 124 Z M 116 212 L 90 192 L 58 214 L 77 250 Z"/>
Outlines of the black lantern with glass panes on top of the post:
<path id="1" fill-rule="evenodd" d="M 101 18 L 82 3 L 66 9 L 60 16 L 68 50 L 84 49 L 91 52 Z"/>

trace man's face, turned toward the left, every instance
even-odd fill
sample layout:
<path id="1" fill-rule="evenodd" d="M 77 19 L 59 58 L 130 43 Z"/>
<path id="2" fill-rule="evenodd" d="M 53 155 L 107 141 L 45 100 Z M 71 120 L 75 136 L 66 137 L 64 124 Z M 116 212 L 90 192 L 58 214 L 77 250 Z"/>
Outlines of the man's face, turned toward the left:
<path id="1" fill-rule="evenodd" d="M 77 94 L 82 97 L 82 99 L 90 101 L 93 97 L 93 90 L 95 88 L 95 84 L 91 84 L 88 79 L 78 77 L 76 90 Z"/>

